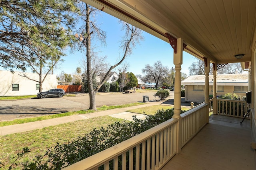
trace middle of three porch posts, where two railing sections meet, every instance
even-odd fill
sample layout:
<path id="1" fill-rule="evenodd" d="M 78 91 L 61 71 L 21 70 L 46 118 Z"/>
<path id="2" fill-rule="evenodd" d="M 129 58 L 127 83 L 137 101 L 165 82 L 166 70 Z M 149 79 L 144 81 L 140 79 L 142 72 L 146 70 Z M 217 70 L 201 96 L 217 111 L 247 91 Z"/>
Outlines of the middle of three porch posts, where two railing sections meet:
<path id="1" fill-rule="evenodd" d="M 209 112 L 209 72 L 210 72 L 210 59 L 204 57 L 204 75 L 205 75 L 205 84 L 204 84 L 204 103 L 208 104 Z M 209 123 L 209 113 L 207 114 L 207 123 Z"/>

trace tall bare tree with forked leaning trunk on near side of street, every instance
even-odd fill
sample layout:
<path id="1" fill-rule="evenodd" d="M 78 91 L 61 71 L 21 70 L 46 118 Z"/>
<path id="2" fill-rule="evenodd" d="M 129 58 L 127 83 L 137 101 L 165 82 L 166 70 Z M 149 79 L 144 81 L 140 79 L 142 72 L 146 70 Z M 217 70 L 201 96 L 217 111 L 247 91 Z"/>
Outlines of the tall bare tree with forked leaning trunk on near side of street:
<path id="1" fill-rule="evenodd" d="M 104 78 L 101 80 L 101 82 L 98 84 L 96 89 L 93 87 L 93 69 L 92 69 L 92 50 L 91 50 L 91 40 L 96 36 L 100 41 L 105 40 L 105 32 L 99 29 L 97 27 L 96 22 L 92 21 L 90 19 L 91 16 L 96 14 L 97 10 L 96 8 L 93 8 L 92 6 L 89 6 L 88 4 L 81 4 L 81 11 L 82 11 L 82 17 L 81 20 L 83 20 L 84 24 L 81 25 L 80 33 L 76 33 L 76 37 L 78 39 L 77 41 L 77 49 L 79 51 L 86 51 L 86 70 L 87 70 L 87 82 L 88 82 L 88 91 L 90 96 L 90 107 L 89 109 L 96 110 L 96 102 L 95 102 L 95 95 L 100 89 L 100 87 L 104 84 L 106 81 L 108 75 L 112 71 L 112 69 L 116 68 L 116 66 L 120 65 L 124 59 L 132 53 L 132 47 L 135 46 L 136 43 L 138 43 L 143 37 L 141 36 L 141 30 L 129 25 L 128 23 L 123 23 L 123 29 L 126 31 L 126 34 L 124 36 L 124 39 L 121 42 L 121 48 L 124 51 L 124 54 L 120 61 L 108 69 L 106 72 Z"/>

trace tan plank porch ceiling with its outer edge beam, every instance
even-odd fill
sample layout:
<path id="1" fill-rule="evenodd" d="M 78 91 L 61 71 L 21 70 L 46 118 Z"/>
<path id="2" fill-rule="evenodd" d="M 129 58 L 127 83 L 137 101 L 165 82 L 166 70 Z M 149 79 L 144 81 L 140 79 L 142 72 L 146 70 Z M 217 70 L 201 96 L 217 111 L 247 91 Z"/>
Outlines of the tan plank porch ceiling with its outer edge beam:
<path id="1" fill-rule="evenodd" d="M 185 51 L 214 63 L 251 61 L 255 0 L 82 0 L 169 43 L 182 37 Z M 244 54 L 242 59 L 234 55 Z"/>

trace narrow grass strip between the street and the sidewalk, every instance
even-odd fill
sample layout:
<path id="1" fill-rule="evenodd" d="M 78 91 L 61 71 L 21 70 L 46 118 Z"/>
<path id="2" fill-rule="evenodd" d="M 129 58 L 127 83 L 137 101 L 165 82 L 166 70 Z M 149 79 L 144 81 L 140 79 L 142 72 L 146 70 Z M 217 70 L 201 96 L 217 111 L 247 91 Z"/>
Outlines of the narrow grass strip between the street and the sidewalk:
<path id="1" fill-rule="evenodd" d="M 124 108 L 124 107 L 131 107 L 131 106 L 138 106 L 146 103 L 142 102 L 136 102 L 132 104 L 123 104 L 118 106 L 102 106 L 98 108 L 97 111 L 104 111 L 109 109 L 116 109 L 116 108 Z M 8 126 L 8 125 L 16 125 L 16 124 L 22 124 L 22 123 L 28 123 L 28 122 L 34 122 L 34 121 L 41 121 L 46 119 L 53 119 L 58 117 L 64 117 L 64 116 L 70 116 L 70 115 L 77 115 L 77 114 L 87 114 L 87 113 L 94 113 L 95 110 L 80 110 L 80 111 L 71 111 L 66 113 L 58 113 L 54 115 L 46 115 L 46 116 L 39 116 L 39 117 L 31 117 L 31 118 L 24 118 L 24 119 L 14 119 L 12 121 L 2 121 L 0 122 L 0 127 L 2 126 Z"/>

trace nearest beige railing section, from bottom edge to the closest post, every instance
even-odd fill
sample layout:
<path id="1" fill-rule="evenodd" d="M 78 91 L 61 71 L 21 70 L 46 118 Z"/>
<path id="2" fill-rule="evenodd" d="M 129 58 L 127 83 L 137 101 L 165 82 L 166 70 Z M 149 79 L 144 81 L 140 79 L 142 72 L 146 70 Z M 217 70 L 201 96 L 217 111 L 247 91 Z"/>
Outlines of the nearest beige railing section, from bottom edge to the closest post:
<path id="1" fill-rule="evenodd" d="M 158 170 L 176 154 L 177 122 L 177 119 L 165 121 L 64 170 L 91 170 L 102 165 L 104 170 Z"/>

